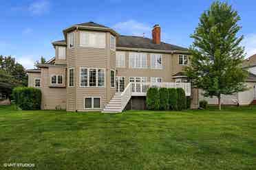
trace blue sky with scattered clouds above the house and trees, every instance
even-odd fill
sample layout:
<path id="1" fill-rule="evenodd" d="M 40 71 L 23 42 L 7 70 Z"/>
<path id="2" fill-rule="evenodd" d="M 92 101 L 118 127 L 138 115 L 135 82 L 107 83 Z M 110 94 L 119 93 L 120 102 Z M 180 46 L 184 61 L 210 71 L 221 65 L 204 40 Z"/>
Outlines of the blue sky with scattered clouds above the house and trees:
<path id="1" fill-rule="evenodd" d="M 213 1 L 1 1 L 0 54 L 14 56 L 27 69 L 40 56 L 54 56 L 51 42 L 63 39 L 62 30 L 75 23 L 94 21 L 120 34 L 151 37 L 158 23 L 162 40 L 189 47 L 189 36 Z M 240 24 L 247 56 L 256 53 L 256 1 L 228 1 L 242 17 Z"/>

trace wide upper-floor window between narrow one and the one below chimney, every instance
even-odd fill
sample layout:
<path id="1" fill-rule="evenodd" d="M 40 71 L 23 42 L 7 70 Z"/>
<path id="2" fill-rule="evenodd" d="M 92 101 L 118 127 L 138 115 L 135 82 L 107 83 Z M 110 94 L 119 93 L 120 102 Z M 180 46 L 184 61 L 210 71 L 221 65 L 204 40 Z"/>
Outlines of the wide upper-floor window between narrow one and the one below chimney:
<path id="1" fill-rule="evenodd" d="M 147 53 L 129 53 L 129 67 L 147 69 Z"/>

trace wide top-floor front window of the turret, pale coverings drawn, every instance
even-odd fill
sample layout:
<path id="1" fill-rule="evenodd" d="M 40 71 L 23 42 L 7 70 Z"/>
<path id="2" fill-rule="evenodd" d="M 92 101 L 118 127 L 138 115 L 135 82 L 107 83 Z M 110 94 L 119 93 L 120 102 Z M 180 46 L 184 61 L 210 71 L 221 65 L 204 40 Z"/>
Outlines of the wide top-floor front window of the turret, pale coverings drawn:
<path id="1" fill-rule="evenodd" d="M 81 47 L 106 47 L 106 34 L 105 32 L 80 32 L 80 46 Z"/>

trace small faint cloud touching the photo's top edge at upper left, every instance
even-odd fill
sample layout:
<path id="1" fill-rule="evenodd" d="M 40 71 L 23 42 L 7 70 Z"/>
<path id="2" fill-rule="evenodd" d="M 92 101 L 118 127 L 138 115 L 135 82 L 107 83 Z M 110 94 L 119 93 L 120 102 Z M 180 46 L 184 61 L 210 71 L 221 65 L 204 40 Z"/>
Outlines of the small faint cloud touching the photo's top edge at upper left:
<path id="1" fill-rule="evenodd" d="M 49 1 L 46 1 L 46 0 L 35 1 L 34 3 L 31 3 L 28 6 L 28 10 L 35 15 L 41 15 L 47 12 L 49 8 L 50 8 L 50 3 Z"/>

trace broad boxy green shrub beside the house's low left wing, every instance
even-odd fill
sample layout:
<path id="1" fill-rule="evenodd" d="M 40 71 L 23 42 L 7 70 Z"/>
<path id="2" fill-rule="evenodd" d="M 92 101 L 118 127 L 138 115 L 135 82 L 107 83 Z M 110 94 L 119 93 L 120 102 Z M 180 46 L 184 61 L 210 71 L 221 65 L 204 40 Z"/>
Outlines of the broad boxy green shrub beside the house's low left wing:
<path id="1" fill-rule="evenodd" d="M 15 104 L 23 110 L 37 110 L 41 108 L 41 90 L 31 87 L 17 87 L 12 90 Z"/>

